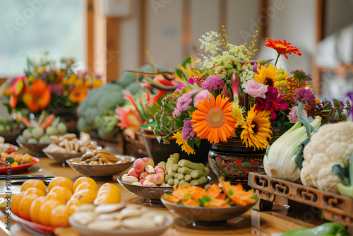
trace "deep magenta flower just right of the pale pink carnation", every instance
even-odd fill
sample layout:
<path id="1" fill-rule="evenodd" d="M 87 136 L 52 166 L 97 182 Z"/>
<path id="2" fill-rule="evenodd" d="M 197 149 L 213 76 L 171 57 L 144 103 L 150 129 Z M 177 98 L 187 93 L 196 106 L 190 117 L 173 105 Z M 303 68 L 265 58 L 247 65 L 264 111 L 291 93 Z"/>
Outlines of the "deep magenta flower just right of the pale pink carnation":
<path id="1" fill-rule="evenodd" d="M 271 112 L 271 119 L 276 119 L 277 114 L 275 111 L 287 110 L 288 105 L 285 100 L 282 100 L 283 94 L 278 93 L 277 88 L 268 86 L 268 91 L 265 93 L 266 97 L 256 98 L 256 107 L 258 111 L 269 110 Z"/>

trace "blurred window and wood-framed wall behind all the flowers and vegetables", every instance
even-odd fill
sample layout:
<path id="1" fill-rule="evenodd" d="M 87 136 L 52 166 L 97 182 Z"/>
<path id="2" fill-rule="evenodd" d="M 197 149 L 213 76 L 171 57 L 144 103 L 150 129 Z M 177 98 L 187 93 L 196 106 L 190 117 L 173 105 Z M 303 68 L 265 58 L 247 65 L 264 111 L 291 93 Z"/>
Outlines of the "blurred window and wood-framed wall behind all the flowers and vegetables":
<path id="1" fill-rule="evenodd" d="M 148 63 L 172 71 L 225 25 L 234 45 L 251 45 L 258 30 L 253 59 L 276 57 L 266 37 L 305 44 L 302 57 L 279 65 L 311 73 L 320 97 L 344 99 L 353 91 L 352 9 L 351 0 L 0 0 L 0 78 L 20 76 L 41 52 L 73 57 L 104 82 Z"/>

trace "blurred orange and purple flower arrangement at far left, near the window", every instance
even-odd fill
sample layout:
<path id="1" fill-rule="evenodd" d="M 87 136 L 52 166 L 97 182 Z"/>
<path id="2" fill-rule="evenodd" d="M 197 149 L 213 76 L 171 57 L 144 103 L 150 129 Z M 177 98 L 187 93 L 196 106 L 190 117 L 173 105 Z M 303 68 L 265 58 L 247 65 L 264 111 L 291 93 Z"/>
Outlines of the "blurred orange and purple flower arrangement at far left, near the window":
<path id="1" fill-rule="evenodd" d="M 67 107 L 78 105 L 90 88 L 102 85 L 99 75 L 88 71 L 74 72 L 73 59 L 61 59 L 61 68 L 56 69 L 53 61 L 44 54 L 40 62 L 28 59 L 25 75 L 9 78 L 1 86 L 2 95 L 9 102 L 8 112 L 27 108 L 31 112 L 44 110 L 49 103 L 64 103 Z M 58 101 L 59 100 L 59 101 Z"/>

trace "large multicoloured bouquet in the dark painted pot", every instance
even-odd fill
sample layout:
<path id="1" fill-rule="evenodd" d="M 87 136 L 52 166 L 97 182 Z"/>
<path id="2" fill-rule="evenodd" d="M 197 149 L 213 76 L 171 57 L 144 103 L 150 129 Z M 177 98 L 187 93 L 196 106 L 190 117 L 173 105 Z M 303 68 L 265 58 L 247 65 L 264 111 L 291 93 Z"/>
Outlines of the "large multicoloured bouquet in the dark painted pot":
<path id="1" fill-rule="evenodd" d="M 209 52 L 202 59 L 189 57 L 173 74 L 180 82 L 174 93 L 162 100 L 155 114 L 155 135 L 169 143 L 169 137 L 188 154 L 201 139 L 210 143 L 241 138 L 246 148 L 265 149 L 270 145 L 273 125 L 287 131 L 297 122 L 297 105 L 305 105 L 306 117 L 323 117 L 323 124 L 347 119 L 347 107 L 338 100 L 333 104 L 319 100 L 309 85 L 311 76 L 301 70 L 285 72 L 277 66 L 287 54 L 301 57 L 298 47 L 281 40 L 267 39 L 265 47 L 278 56 L 275 64 L 265 59 L 251 61 L 256 53 L 256 35 L 249 48 L 228 42 L 222 34 L 211 31 L 202 35 L 201 49 Z M 270 60 L 271 61 L 271 60 Z"/>

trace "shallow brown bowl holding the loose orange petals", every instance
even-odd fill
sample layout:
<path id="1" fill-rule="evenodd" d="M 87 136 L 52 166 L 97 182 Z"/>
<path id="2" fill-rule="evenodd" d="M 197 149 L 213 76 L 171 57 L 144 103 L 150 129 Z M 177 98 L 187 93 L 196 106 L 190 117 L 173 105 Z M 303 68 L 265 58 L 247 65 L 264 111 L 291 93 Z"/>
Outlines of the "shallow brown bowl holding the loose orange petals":
<path id="1" fill-rule="evenodd" d="M 184 218 L 189 218 L 193 220 L 193 223 L 196 225 L 223 225 L 227 223 L 227 220 L 236 218 L 241 214 L 249 211 L 251 207 L 256 203 L 249 204 L 247 206 L 230 206 L 222 208 L 208 208 L 203 206 L 191 207 L 191 206 L 182 206 L 175 203 L 170 203 L 160 198 L 163 205 L 174 213 L 177 213 L 179 216 Z"/>

